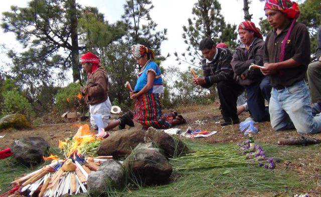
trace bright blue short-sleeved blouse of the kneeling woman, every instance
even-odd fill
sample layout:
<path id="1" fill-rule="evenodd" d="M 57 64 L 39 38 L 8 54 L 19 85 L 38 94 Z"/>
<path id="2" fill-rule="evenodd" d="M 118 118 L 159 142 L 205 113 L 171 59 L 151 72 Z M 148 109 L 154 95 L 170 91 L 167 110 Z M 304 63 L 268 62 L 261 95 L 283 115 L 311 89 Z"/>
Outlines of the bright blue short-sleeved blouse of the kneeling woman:
<path id="1" fill-rule="evenodd" d="M 148 90 L 148 93 L 164 93 L 161 68 L 153 61 L 148 61 L 139 72 L 134 91 L 139 92 L 147 84 L 147 74 L 149 71 L 155 74 L 155 79 L 153 86 Z"/>

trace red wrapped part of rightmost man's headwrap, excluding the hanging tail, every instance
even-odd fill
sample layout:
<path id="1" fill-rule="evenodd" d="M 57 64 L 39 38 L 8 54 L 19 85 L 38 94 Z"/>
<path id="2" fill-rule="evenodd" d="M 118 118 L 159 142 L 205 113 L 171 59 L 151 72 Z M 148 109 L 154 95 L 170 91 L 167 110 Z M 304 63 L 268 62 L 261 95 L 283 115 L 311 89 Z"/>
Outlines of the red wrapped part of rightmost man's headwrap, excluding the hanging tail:
<path id="1" fill-rule="evenodd" d="M 299 6 L 289 0 L 266 0 L 264 10 L 266 9 L 280 11 L 290 19 L 297 19 L 300 15 Z"/>

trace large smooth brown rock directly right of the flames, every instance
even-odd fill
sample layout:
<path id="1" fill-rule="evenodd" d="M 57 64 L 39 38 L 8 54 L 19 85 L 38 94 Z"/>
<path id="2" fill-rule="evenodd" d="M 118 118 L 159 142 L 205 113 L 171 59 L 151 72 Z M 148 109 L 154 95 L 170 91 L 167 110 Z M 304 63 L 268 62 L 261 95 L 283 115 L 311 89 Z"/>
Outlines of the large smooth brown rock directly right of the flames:
<path id="1" fill-rule="evenodd" d="M 144 141 L 145 131 L 128 129 L 112 132 L 104 139 L 97 149 L 98 155 L 111 155 L 115 159 L 125 157 L 141 142 Z"/>

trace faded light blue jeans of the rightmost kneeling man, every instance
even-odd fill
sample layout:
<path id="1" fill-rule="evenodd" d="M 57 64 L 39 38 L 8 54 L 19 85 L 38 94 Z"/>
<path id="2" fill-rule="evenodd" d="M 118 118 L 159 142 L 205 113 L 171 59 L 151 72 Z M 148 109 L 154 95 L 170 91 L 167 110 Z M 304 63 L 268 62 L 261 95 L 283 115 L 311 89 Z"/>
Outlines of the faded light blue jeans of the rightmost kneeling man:
<path id="1" fill-rule="evenodd" d="M 269 113 L 273 130 L 295 128 L 298 133 L 321 132 L 321 115 L 312 116 L 310 93 L 304 81 L 271 91 Z"/>

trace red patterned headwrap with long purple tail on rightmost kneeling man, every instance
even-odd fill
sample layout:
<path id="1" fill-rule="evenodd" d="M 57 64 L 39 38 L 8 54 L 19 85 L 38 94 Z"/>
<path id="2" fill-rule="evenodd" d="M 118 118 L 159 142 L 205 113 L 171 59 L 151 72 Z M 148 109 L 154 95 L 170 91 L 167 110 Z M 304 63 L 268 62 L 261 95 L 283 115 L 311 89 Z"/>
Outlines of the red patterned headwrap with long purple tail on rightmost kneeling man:
<path id="1" fill-rule="evenodd" d="M 295 2 L 291 2 L 289 0 L 266 0 L 264 10 L 266 9 L 280 11 L 284 13 L 287 18 L 293 19 L 291 26 L 287 31 L 287 34 L 285 35 L 281 45 L 279 62 L 283 62 L 287 39 L 289 38 L 293 30 L 296 19 L 300 16 L 299 6 Z"/>

